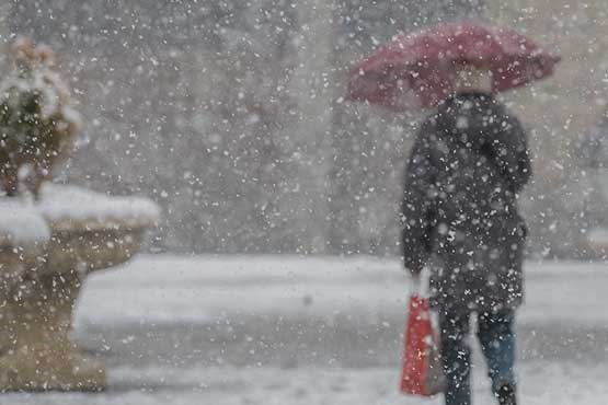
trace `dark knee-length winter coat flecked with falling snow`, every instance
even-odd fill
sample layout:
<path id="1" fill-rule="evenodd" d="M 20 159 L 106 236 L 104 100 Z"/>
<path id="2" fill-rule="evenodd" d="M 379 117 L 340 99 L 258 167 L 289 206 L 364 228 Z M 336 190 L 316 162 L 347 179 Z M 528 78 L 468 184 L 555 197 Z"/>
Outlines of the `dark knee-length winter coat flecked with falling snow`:
<path id="1" fill-rule="evenodd" d="M 517 194 L 531 175 L 521 124 L 483 93 L 455 95 L 422 125 L 405 174 L 405 266 L 431 265 L 432 305 L 516 308 L 526 225 Z"/>

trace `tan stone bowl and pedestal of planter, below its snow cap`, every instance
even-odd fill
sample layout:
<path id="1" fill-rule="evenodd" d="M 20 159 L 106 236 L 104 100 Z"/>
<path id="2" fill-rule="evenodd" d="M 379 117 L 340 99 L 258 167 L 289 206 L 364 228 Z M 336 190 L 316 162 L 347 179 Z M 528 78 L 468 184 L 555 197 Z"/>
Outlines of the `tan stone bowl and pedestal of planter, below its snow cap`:
<path id="1" fill-rule="evenodd" d="M 85 197 L 104 213 L 121 202 Z M 123 202 L 126 207 L 117 207 L 123 211 L 135 204 Z M 70 338 L 78 294 L 89 273 L 125 263 L 139 252 L 156 220 L 154 207 L 144 206 L 148 210 L 140 217 L 134 213 L 138 209 L 130 216 L 123 212 L 123 218 L 116 209 L 112 219 L 92 212 L 85 212 L 89 219 L 83 213 L 69 219 L 61 210 L 58 218 L 48 218 L 53 216 L 43 208 L 48 241 L 14 247 L 10 238 L 0 239 L 0 391 L 100 391 L 107 384 L 104 366 L 83 356 Z M 57 207 L 51 208 L 48 211 L 57 213 Z"/>

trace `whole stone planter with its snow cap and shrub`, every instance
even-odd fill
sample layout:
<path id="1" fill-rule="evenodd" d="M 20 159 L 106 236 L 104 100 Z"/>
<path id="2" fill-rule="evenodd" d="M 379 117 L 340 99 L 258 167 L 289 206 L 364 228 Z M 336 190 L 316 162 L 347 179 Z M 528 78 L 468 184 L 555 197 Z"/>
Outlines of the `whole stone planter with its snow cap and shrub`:
<path id="1" fill-rule="evenodd" d="M 101 362 L 71 339 L 91 271 L 127 262 L 159 218 L 150 200 L 53 184 L 79 115 L 54 54 L 19 39 L 0 82 L 0 391 L 106 386 Z"/>

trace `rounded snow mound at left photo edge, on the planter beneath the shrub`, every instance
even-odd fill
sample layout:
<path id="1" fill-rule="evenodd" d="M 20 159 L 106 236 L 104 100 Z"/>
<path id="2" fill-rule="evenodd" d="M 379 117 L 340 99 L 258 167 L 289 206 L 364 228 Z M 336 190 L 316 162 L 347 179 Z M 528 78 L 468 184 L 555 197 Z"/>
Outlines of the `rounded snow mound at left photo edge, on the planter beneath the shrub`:
<path id="1" fill-rule="evenodd" d="M 34 244 L 49 238 L 46 221 L 34 206 L 12 198 L 0 201 L 1 244 Z"/>

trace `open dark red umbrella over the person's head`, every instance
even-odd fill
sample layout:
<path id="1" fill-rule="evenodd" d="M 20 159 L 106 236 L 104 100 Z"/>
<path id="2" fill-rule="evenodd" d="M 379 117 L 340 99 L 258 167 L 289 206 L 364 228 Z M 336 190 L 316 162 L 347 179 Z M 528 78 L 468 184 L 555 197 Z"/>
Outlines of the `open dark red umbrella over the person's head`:
<path id="1" fill-rule="evenodd" d="M 550 76 L 559 60 L 511 28 L 439 24 L 399 35 L 356 66 L 347 100 L 427 107 L 454 92 L 459 66 L 490 70 L 493 91 L 501 92 Z"/>

